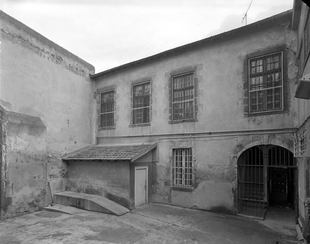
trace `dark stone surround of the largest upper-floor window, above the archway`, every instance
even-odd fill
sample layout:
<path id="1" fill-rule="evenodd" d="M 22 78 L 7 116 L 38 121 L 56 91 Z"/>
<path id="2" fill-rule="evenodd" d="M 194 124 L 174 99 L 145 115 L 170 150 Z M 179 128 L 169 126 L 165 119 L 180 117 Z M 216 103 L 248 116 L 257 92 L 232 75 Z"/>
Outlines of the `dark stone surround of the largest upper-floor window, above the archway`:
<path id="1" fill-rule="evenodd" d="M 270 115 L 270 114 L 283 114 L 287 113 L 289 110 L 289 91 L 288 91 L 288 67 L 287 67 L 287 52 L 289 50 L 289 47 L 286 45 L 276 45 L 276 46 L 269 46 L 265 48 L 261 48 L 259 50 L 251 51 L 245 54 L 244 56 L 244 65 L 243 65 L 243 88 L 244 88 L 244 99 L 243 99 L 243 105 L 244 105 L 244 117 L 252 117 L 252 116 L 262 116 L 262 115 Z M 268 55 L 271 53 L 276 53 L 282 51 L 282 90 L 283 90 L 283 106 L 281 110 L 267 110 L 267 111 L 261 111 L 261 112 L 253 112 L 250 113 L 249 111 L 249 67 L 248 67 L 248 60 Z"/>

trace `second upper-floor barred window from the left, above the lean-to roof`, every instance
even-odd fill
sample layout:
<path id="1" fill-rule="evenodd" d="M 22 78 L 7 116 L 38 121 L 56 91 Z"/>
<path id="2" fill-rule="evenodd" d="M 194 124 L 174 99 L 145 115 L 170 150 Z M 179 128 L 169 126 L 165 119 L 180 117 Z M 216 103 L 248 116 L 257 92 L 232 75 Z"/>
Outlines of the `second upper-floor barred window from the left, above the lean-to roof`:
<path id="1" fill-rule="evenodd" d="M 150 122 L 150 81 L 132 86 L 132 124 Z"/>

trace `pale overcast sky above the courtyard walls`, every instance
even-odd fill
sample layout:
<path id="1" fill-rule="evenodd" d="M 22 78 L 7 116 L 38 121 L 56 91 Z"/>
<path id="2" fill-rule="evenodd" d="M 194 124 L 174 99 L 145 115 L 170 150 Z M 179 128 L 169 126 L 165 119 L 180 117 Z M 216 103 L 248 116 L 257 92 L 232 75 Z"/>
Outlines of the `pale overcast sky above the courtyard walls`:
<path id="1" fill-rule="evenodd" d="M 251 0 L 0 0 L 0 9 L 96 73 L 245 25 Z M 253 0 L 247 24 L 293 8 Z"/>

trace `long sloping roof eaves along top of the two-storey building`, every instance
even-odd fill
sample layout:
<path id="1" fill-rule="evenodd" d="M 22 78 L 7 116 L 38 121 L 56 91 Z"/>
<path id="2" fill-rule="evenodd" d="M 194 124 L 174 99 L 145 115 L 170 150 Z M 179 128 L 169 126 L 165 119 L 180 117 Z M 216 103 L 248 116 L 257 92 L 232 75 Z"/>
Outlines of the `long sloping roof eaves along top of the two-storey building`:
<path id="1" fill-rule="evenodd" d="M 192 48 L 192 47 L 197 46 L 197 45 L 202 45 L 203 43 L 206 43 L 206 42 L 212 42 L 214 39 L 219 39 L 219 38 L 224 38 L 225 36 L 229 36 L 229 35 L 236 35 L 236 34 L 239 34 L 239 33 L 244 33 L 244 31 L 247 31 L 248 29 L 252 29 L 254 27 L 261 26 L 262 24 L 268 23 L 270 21 L 275 21 L 277 19 L 285 17 L 286 15 L 292 14 L 292 12 L 293 12 L 293 9 L 285 11 L 285 12 L 282 12 L 282 13 L 277 14 L 277 15 L 270 16 L 268 18 L 259 20 L 257 22 L 252 23 L 252 24 L 249 24 L 249 25 L 239 27 L 237 29 L 233 29 L 233 30 L 230 30 L 230 31 L 226 31 L 226 32 L 214 35 L 214 36 L 210 36 L 210 37 L 207 37 L 205 39 L 202 39 L 202 40 L 199 40 L 199 41 L 196 41 L 196 42 L 193 42 L 193 43 L 185 44 L 183 46 L 178 46 L 178 47 L 175 47 L 175 48 L 163 51 L 161 53 L 158 53 L 158 54 L 155 54 L 155 55 L 152 55 L 152 56 L 140 59 L 140 60 L 136 60 L 136 61 L 132 61 L 132 62 L 129 62 L 129 63 L 125 63 L 125 64 L 122 64 L 120 66 L 116 66 L 114 68 L 111 68 L 111 69 L 99 72 L 97 74 L 90 75 L 90 78 L 96 79 L 96 78 L 98 78 L 100 76 L 112 73 L 112 72 L 114 72 L 116 70 L 124 69 L 124 68 L 130 67 L 132 65 L 136 65 L 136 64 L 143 63 L 143 62 L 146 62 L 146 61 L 151 61 L 151 60 L 154 60 L 156 58 L 160 58 L 160 57 L 163 57 L 165 55 L 168 55 L 170 53 L 177 52 L 179 50 L 184 50 L 184 49 L 187 49 L 187 48 Z"/>

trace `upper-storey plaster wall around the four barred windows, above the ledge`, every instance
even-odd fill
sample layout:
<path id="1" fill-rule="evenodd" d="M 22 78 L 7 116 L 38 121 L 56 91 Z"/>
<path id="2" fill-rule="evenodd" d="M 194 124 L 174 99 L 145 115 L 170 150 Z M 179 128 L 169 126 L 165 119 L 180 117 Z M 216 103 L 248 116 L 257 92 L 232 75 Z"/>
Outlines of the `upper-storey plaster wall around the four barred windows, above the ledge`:
<path id="1" fill-rule="evenodd" d="M 247 59 L 253 52 L 260 56 L 270 53 L 271 49 L 283 51 L 285 109 L 283 113 L 249 117 Z M 295 32 L 290 29 L 290 20 L 285 19 L 99 77 L 95 81 L 96 89 L 115 86 L 115 129 L 98 130 L 97 136 L 294 127 L 297 125 L 294 91 L 298 71 L 295 54 Z M 198 121 L 169 123 L 171 74 L 190 69 L 196 70 Z M 130 127 L 131 84 L 138 80 L 151 80 L 151 125 Z"/>

